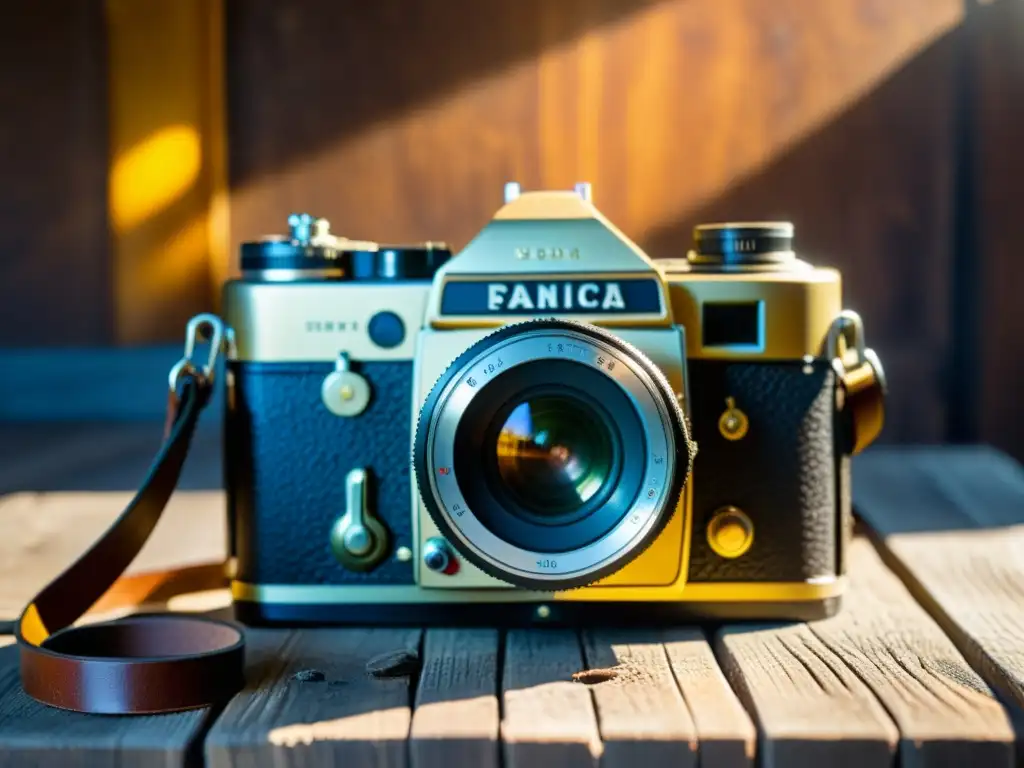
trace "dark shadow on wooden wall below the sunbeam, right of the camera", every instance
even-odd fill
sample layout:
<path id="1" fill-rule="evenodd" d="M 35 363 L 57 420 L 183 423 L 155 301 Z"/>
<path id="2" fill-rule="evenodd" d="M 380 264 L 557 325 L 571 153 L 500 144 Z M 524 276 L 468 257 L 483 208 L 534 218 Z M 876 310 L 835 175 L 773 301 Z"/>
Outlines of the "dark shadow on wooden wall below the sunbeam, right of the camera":
<path id="1" fill-rule="evenodd" d="M 956 87 L 966 43 L 955 28 L 816 132 L 723 194 L 648 232 L 679 257 L 700 222 L 784 219 L 805 259 L 843 273 L 886 366 L 882 442 L 946 439 L 953 403 Z M 968 340 L 967 343 L 970 343 Z"/>

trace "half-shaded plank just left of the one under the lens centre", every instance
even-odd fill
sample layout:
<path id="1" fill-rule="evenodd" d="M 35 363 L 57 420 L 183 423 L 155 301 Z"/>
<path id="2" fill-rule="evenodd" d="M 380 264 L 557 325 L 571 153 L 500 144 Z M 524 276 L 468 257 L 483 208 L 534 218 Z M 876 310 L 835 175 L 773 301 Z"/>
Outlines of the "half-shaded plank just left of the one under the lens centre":
<path id="1" fill-rule="evenodd" d="M 413 768 L 498 768 L 497 630 L 430 630 L 410 733 Z"/>

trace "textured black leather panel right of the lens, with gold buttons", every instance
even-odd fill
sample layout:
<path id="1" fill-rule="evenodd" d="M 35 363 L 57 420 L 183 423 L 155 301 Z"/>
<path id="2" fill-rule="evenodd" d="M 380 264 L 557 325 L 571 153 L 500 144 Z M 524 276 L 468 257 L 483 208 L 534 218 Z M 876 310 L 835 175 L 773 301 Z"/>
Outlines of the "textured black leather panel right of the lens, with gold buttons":
<path id="1" fill-rule="evenodd" d="M 802 582 L 833 575 L 839 524 L 834 402 L 827 364 L 691 360 L 690 415 L 699 453 L 693 468 L 692 582 Z M 750 428 L 725 439 L 718 420 L 734 397 Z M 754 543 L 726 559 L 708 545 L 714 512 L 732 505 L 754 522 Z"/>

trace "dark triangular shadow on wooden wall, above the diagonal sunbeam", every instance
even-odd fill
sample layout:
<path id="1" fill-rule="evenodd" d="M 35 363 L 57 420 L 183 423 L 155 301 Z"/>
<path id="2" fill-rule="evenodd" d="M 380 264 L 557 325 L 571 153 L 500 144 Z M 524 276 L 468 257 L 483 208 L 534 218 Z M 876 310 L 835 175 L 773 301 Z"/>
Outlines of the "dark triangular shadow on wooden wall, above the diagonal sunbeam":
<path id="1" fill-rule="evenodd" d="M 660 1 L 228 0 L 231 185 Z"/>

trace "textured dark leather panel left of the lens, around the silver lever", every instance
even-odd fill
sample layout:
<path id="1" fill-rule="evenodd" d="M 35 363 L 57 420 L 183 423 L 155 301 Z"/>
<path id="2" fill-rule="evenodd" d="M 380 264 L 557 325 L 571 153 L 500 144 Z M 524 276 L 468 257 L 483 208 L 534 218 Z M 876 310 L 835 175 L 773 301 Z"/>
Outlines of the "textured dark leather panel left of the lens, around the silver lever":
<path id="1" fill-rule="evenodd" d="M 354 364 L 371 386 L 366 411 L 333 415 L 321 400 L 330 364 L 232 364 L 225 470 L 238 575 L 253 584 L 412 584 L 412 361 Z M 390 532 L 388 557 L 345 569 L 329 535 L 345 512 L 345 475 L 368 470 L 368 502 Z"/>

